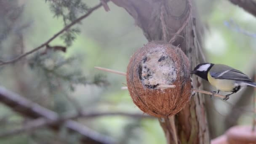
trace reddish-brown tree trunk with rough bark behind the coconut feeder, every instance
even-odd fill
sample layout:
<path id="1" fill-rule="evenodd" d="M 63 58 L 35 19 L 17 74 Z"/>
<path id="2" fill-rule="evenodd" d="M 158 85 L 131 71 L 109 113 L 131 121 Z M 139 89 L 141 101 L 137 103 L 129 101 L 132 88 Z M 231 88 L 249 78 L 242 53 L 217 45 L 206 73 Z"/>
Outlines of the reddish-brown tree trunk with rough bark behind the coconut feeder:
<path id="1" fill-rule="evenodd" d="M 169 41 L 173 36 L 177 39 L 172 43 L 180 46 L 190 60 L 191 68 L 203 61 L 200 49 L 200 32 L 197 30 L 197 19 L 192 5 L 192 16 L 189 16 L 188 0 L 112 0 L 116 5 L 125 8 L 141 27 L 148 41 Z M 189 16 L 189 17 L 188 17 Z M 176 32 L 189 22 L 182 32 Z M 198 22 L 198 21 L 197 21 Z M 200 26 L 199 26 L 200 27 Z M 193 77 L 193 85 L 198 88 L 201 82 Z M 160 118 L 168 144 L 209 144 L 209 133 L 205 114 L 204 98 L 196 94 L 189 104 L 174 118 Z"/>

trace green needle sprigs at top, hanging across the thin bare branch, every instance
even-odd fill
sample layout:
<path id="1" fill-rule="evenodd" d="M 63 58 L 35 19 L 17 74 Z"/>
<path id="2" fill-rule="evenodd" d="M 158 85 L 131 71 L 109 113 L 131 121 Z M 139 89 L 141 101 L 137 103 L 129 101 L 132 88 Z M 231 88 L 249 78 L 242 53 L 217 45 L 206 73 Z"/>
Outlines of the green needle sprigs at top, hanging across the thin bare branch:
<path id="1" fill-rule="evenodd" d="M 45 0 L 50 3 L 50 10 L 57 18 L 62 18 L 64 26 L 67 26 L 72 21 L 78 18 L 80 14 L 88 11 L 88 6 L 81 0 Z M 67 46 L 71 46 L 76 35 L 80 33 L 78 27 L 70 28 L 61 35 Z"/>

